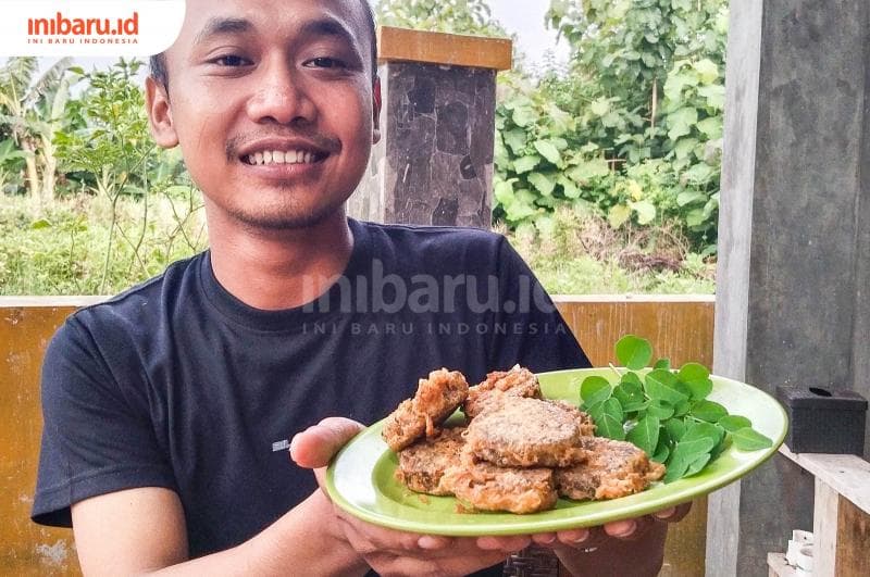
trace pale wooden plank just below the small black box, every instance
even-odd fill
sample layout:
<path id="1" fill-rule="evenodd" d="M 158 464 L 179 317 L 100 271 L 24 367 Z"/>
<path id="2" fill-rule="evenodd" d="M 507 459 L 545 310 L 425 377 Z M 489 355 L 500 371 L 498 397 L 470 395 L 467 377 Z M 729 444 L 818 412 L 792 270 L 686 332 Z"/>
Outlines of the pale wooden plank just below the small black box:
<path id="1" fill-rule="evenodd" d="M 836 492 L 870 513 L 870 463 L 857 455 L 793 453 L 786 446 L 780 454 L 791 459 Z"/>

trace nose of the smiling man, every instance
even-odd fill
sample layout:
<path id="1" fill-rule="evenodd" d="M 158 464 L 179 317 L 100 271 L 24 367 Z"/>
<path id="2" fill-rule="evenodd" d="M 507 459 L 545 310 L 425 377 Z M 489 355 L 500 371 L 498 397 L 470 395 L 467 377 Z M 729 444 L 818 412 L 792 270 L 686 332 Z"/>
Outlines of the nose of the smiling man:
<path id="1" fill-rule="evenodd" d="M 313 122 L 316 106 L 301 75 L 285 59 L 265 63 L 254 79 L 258 86 L 248 100 L 248 116 L 256 123 L 306 124 Z"/>

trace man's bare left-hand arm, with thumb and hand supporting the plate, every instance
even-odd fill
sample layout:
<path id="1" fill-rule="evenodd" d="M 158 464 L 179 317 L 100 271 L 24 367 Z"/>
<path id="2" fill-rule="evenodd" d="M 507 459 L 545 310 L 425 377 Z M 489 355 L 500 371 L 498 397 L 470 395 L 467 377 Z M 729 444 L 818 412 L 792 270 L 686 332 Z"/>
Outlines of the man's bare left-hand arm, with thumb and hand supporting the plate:
<path id="1" fill-rule="evenodd" d="M 297 436 L 297 462 L 324 466 L 361 429 L 327 418 Z M 139 488 L 83 500 L 72 507 L 73 530 L 85 575 L 465 575 L 494 565 L 529 537 L 448 538 L 395 531 L 338 511 L 314 491 L 270 527 L 233 549 L 187 561 L 184 512 L 175 492 Z"/>

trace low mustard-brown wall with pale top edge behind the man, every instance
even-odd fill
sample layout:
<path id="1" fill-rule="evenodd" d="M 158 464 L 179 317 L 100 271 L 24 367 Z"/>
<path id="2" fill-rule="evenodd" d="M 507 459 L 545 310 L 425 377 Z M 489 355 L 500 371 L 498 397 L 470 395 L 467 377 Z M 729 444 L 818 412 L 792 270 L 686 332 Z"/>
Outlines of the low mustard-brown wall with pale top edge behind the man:
<path id="1" fill-rule="evenodd" d="M 78 575 L 72 534 L 29 520 L 39 436 L 39 367 L 51 335 L 92 298 L 0 298 L 0 575 Z M 674 364 L 712 363 L 708 297 L 562 297 L 557 305 L 595 365 L 614 362 L 624 334 Z M 668 538 L 662 575 L 704 575 L 706 500 Z"/>

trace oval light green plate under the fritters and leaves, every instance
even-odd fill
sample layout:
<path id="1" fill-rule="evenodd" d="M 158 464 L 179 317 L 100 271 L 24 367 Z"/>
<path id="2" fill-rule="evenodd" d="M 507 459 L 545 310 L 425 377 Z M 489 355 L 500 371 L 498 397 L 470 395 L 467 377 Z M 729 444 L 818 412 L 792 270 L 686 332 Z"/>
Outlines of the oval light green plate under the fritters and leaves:
<path id="1" fill-rule="evenodd" d="M 611 369 L 579 368 L 538 375 L 548 399 L 579 402 L 580 384 L 591 375 L 614 380 Z M 527 535 L 559 529 L 601 525 L 637 517 L 696 497 L 741 478 L 767 461 L 785 438 L 785 411 L 769 394 L 749 385 L 723 377 L 711 377 L 713 390 L 708 399 L 724 405 L 732 415 L 742 415 L 753 427 L 773 439 L 773 447 L 738 451 L 732 444 L 701 473 L 664 485 L 654 484 L 646 491 L 610 501 L 560 499 L 556 509 L 529 515 L 511 513 L 458 513 L 452 497 L 415 493 L 396 480 L 398 460 L 381 439 L 383 421 L 355 437 L 333 460 L 326 473 L 326 490 L 333 501 L 351 515 L 369 523 L 405 531 L 450 535 Z"/>

